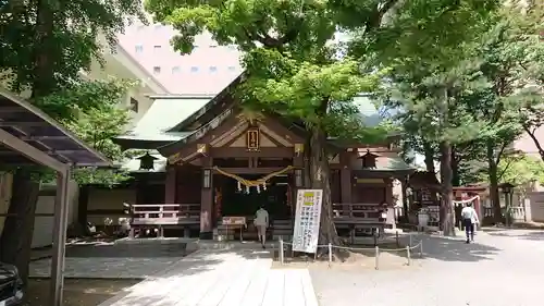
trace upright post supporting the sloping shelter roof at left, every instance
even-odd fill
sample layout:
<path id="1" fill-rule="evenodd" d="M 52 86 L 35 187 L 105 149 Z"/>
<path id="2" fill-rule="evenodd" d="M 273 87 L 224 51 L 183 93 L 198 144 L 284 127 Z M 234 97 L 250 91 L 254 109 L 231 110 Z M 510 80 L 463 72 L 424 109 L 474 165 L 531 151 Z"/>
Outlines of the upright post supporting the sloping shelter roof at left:
<path id="1" fill-rule="evenodd" d="M 51 283 L 48 305 L 62 306 L 64 287 L 64 255 L 69 212 L 70 168 L 57 172 L 57 196 L 53 225 L 53 256 L 51 259 Z"/>

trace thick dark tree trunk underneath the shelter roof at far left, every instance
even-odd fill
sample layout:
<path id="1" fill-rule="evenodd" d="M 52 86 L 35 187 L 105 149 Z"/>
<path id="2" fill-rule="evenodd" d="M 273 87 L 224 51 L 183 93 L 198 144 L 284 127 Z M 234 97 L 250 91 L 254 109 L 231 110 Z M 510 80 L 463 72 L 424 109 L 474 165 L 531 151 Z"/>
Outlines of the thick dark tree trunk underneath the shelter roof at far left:
<path id="1" fill-rule="evenodd" d="M 34 213 L 39 194 L 39 183 L 32 179 L 27 169 L 20 169 L 13 175 L 9 216 L 0 236 L 0 261 L 15 265 L 25 286 L 30 261 Z"/>

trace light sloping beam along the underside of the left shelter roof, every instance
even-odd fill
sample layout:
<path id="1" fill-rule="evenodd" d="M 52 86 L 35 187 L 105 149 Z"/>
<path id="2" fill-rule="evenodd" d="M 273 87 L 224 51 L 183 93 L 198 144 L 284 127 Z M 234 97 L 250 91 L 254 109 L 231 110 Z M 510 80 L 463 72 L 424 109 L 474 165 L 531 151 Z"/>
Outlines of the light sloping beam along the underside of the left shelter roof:
<path id="1" fill-rule="evenodd" d="M 37 148 L 28 145 L 27 143 L 21 140 L 20 138 L 11 135 L 10 133 L 0 128 L 0 142 L 5 146 L 21 152 L 21 155 L 36 161 L 39 164 L 51 168 L 58 172 L 64 172 L 70 168 L 69 164 L 62 163 L 61 161 L 48 156 L 46 152 L 38 150 Z"/>

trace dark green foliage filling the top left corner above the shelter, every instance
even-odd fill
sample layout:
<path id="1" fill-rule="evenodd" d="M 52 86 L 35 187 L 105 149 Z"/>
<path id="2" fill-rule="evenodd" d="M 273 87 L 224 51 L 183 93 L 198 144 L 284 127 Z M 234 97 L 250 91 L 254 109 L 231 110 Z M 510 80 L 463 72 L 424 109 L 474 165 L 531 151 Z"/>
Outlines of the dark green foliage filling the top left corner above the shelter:
<path id="1" fill-rule="evenodd" d="M 44 93 L 71 87 L 82 69 L 101 59 L 100 40 L 113 46 L 132 19 L 145 21 L 140 1 L 2 1 L 0 70 L 9 72 L 13 91 L 36 91 L 37 84 L 50 87 Z"/>

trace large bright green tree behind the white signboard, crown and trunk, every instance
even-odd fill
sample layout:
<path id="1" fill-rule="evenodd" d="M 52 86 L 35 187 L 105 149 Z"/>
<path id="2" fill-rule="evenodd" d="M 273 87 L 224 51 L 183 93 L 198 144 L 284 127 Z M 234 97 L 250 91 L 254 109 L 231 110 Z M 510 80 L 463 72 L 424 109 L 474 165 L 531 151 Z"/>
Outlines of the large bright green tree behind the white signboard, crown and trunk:
<path id="1" fill-rule="evenodd" d="M 182 53 L 190 52 L 195 36 L 205 30 L 220 45 L 237 45 L 246 52 L 244 64 L 248 78 L 239 90 L 246 107 L 274 110 L 307 127 L 310 136 L 305 151 L 311 164 L 307 183 L 324 191 L 321 242 L 341 244 L 332 222 L 326 138 L 379 134 L 363 128 L 351 103 L 354 96 L 372 87 L 376 78 L 360 75 L 353 61 L 336 59 L 338 49 L 329 48 L 327 44 L 339 24 L 356 22 L 368 28 L 379 26 L 395 2 L 146 2 L 146 9 L 157 21 L 180 30 L 172 42 Z M 358 14 L 348 16 L 350 10 Z"/>

